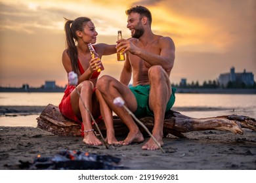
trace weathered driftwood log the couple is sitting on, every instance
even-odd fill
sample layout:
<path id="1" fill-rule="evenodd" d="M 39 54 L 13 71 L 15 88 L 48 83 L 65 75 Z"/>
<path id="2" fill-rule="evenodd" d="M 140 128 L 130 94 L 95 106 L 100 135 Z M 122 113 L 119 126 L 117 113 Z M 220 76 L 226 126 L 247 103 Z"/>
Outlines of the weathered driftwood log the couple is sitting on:
<path id="1" fill-rule="evenodd" d="M 152 131 L 154 127 L 153 117 L 140 118 L 139 120 L 146 125 L 150 131 Z M 140 125 L 138 126 L 140 127 Z M 60 113 L 58 107 L 51 104 L 47 105 L 37 118 L 37 127 L 45 131 L 49 131 L 54 135 L 81 136 L 81 124 L 64 117 Z M 98 127 L 102 134 L 106 135 L 106 127 L 103 121 L 98 124 Z M 117 116 L 114 116 L 114 128 L 116 136 L 125 136 L 128 133 L 127 127 Z M 242 135 L 242 128 L 256 131 L 255 119 L 235 114 L 212 118 L 190 118 L 188 116 L 184 116 L 180 112 L 169 110 L 165 114 L 163 135 L 166 136 L 171 134 L 182 138 L 185 137 L 182 133 L 205 130 L 232 131 L 232 133 L 239 133 Z M 143 128 L 140 128 L 140 130 L 142 133 L 146 134 Z"/>

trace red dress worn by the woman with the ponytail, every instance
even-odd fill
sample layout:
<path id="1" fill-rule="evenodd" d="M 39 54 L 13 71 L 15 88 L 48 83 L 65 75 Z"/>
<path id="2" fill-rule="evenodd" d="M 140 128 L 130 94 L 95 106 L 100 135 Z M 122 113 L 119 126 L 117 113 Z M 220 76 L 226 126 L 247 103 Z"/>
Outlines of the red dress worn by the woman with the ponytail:
<path id="1" fill-rule="evenodd" d="M 81 75 L 83 73 L 85 73 L 85 71 L 83 70 L 83 67 L 78 59 L 78 69 L 81 73 Z M 98 75 L 100 75 L 100 72 L 98 73 L 97 71 L 95 71 L 93 73 L 93 75 L 91 76 L 91 78 L 98 78 Z M 70 99 L 70 93 L 72 93 L 72 91 L 75 90 L 75 86 L 73 85 L 67 85 L 66 90 L 64 91 L 64 96 L 62 97 L 62 100 L 60 102 L 60 104 L 58 105 L 58 108 L 60 109 L 60 112 L 66 116 L 66 118 L 73 120 L 75 122 L 78 122 L 81 124 L 81 136 L 83 137 L 83 122 L 81 119 L 78 119 L 77 116 L 75 116 L 75 112 L 72 109 L 72 105 L 71 105 L 71 99 Z M 96 88 L 93 88 L 93 92 L 95 92 Z M 100 122 L 100 120 L 102 120 L 101 116 L 99 118 L 97 118 L 95 121 L 98 123 Z"/>

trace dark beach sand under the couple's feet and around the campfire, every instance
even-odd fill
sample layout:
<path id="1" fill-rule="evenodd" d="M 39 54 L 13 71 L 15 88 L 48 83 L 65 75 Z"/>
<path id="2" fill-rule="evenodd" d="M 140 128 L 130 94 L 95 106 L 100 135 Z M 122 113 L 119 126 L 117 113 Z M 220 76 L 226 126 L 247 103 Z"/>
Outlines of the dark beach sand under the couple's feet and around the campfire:
<path id="1" fill-rule="evenodd" d="M 160 150 L 142 150 L 144 142 L 106 149 L 83 144 L 82 137 L 58 137 L 37 127 L 1 126 L 0 169 L 22 169 L 20 160 L 32 163 L 38 154 L 49 157 L 61 150 L 114 156 L 121 159 L 119 167 L 131 170 L 256 169 L 255 131 L 244 129 L 244 135 L 226 131 L 195 131 L 184 135 L 187 138 L 165 137 L 163 154 Z M 124 138 L 117 137 L 118 140 Z M 148 137 L 145 142 L 147 140 Z"/>

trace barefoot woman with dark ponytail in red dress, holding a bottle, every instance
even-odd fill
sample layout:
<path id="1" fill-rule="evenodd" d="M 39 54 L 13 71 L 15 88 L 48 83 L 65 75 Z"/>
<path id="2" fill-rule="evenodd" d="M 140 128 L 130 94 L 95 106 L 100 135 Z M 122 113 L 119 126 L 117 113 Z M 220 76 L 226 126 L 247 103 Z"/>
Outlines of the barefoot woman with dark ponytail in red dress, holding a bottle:
<path id="1" fill-rule="evenodd" d="M 112 125 L 112 111 L 95 87 L 98 75 L 100 75 L 97 69 L 103 69 L 100 59 L 103 55 L 116 53 L 116 44 L 95 44 L 98 33 L 93 22 L 86 17 L 79 17 L 75 20 L 66 19 L 65 31 L 67 48 L 62 54 L 64 69 L 67 73 L 74 71 L 77 74 L 77 90 L 93 117 L 101 120 L 102 116 L 105 124 Z M 100 59 L 91 58 L 89 43 L 94 44 L 93 46 Z M 78 93 L 74 89 L 75 86 L 67 85 L 59 105 L 60 112 L 70 120 L 81 123 L 81 135 L 85 144 L 101 145 L 102 142 L 93 132 L 91 115 L 83 106 Z M 117 142 L 116 139 L 108 139 L 108 135 L 106 138 L 108 142 Z"/>

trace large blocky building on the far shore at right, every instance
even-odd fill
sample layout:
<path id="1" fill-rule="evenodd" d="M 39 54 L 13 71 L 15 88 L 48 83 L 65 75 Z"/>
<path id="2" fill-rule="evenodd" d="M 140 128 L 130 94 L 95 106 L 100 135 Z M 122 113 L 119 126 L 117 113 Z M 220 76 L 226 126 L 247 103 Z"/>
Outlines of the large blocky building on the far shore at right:
<path id="1" fill-rule="evenodd" d="M 247 86 L 253 86 L 254 76 L 253 73 L 246 73 L 245 69 L 244 73 L 235 73 L 235 69 L 232 67 L 230 73 L 221 74 L 219 76 L 219 84 L 221 86 L 226 87 L 228 82 L 244 82 Z"/>

